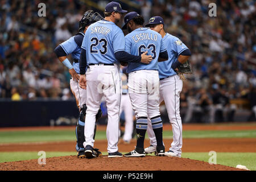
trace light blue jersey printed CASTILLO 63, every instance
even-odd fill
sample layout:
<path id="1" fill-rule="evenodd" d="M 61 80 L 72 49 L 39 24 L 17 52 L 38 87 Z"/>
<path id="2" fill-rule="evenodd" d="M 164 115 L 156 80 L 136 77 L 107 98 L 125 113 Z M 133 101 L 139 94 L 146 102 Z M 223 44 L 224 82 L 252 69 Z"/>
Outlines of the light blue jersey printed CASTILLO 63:
<path id="1" fill-rule="evenodd" d="M 152 56 L 150 64 L 129 63 L 127 73 L 130 73 L 141 69 L 158 70 L 159 53 L 166 51 L 166 47 L 158 32 L 148 28 L 137 28 L 125 36 L 125 51 L 136 56 L 148 51 L 147 55 Z"/>

